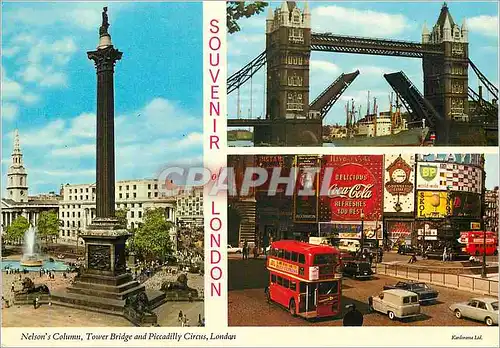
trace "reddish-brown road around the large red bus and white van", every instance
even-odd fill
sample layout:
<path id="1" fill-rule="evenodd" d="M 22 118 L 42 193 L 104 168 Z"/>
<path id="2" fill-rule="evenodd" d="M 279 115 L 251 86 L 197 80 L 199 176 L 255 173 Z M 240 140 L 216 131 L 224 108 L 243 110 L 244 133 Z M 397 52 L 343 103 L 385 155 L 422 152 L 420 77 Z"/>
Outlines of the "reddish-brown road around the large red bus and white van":
<path id="1" fill-rule="evenodd" d="M 264 288 L 268 283 L 264 259 L 241 260 L 230 258 L 228 265 L 229 326 L 341 326 L 342 319 L 309 322 L 292 317 L 277 304 L 268 304 Z M 457 319 L 448 309 L 454 302 L 466 301 L 474 294 L 433 286 L 439 291 L 438 303 L 422 306 L 423 315 L 413 320 L 391 321 L 386 315 L 368 313 L 367 299 L 377 294 L 385 284 L 398 279 L 377 275 L 368 281 L 343 280 L 342 308 L 354 303 L 364 314 L 365 326 L 482 326 L 483 323 Z M 345 309 L 344 309 L 345 310 Z"/>

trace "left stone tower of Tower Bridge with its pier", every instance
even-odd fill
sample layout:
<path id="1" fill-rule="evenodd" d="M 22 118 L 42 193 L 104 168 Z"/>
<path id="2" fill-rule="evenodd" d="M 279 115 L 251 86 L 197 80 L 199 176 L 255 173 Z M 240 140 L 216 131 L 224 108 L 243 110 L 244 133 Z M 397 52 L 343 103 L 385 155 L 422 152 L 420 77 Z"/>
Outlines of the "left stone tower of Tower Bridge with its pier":
<path id="1" fill-rule="evenodd" d="M 256 129 L 256 137 L 274 145 L 318 145 L 321 119 L 309 114 L 309 58 L 311 13 L 285 1 L 266 20 L 267 100 L 270 127 Z"/>

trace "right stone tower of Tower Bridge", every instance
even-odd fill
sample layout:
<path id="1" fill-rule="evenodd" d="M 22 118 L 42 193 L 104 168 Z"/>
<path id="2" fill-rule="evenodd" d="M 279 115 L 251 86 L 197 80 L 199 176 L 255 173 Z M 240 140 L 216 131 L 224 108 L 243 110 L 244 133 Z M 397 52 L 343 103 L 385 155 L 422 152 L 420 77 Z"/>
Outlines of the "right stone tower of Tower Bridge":
<path id="1" fill-rule="evenodd" d="M 445 2 L 431 32 L 424 24 L 422 44 L 439 45 L 443 52 L 440 56 L 423 56 L 425 98 L 445 120 L 464 120 L 464 115 L 469 115 L 469 43 L 465 18 L 461 26 L 457 25 Z"/>

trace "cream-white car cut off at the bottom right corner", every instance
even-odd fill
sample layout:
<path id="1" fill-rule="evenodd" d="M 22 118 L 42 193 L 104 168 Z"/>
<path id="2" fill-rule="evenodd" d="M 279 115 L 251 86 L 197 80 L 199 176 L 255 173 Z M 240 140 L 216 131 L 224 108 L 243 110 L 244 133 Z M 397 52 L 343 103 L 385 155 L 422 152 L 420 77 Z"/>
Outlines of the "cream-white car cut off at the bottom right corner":
<path id="1" fill-rule="evenodd" d="M 498 325 L 498 299 L 475 297 L 468 302 L 454 303 L 450 310 L 458 319 L 470 318 L 482 321 L 488 326 Z"/>

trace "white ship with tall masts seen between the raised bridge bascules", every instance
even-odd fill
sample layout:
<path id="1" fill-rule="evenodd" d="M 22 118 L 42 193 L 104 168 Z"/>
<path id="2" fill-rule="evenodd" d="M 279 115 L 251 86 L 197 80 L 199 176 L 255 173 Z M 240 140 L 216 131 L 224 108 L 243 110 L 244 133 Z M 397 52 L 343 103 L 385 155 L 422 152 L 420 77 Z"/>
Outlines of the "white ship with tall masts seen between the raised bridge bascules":
<path id="1" fill-rule="evenodd" d="M 373 98 L 373 113 L 368 102 L 366 116 L 361 119 L 358 119 L 361 110 L 356 110 L 354 100 L 350 104 L 348 101 L 345 126 L 326 126 L 324 146 L 432 146 L 435 136 L 425 126 L 425 120 L 408 123 L 398 96 L 394 104 L 391 93 L 389 101 L 389 111 L 378 113 L 377 99 Z"/>

